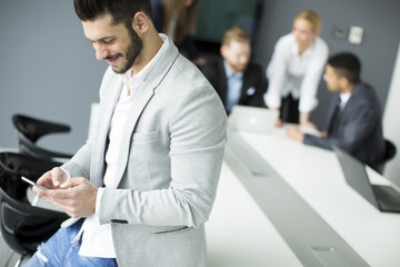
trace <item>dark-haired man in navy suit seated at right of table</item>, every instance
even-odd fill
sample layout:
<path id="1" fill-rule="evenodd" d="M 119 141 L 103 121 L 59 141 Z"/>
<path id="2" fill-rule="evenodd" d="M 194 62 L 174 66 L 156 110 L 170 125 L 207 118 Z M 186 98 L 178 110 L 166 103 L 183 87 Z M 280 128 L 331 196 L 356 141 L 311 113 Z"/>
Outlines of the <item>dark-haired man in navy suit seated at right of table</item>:
<path id="1" fill-rule="evenodd" d="M 288 127 L 289 138 L 331 149 L 334 144 L 361 162 L 376 168 L 384 157 L 382 119 L 372 87 L 360 80 L 361 63 L 352 53 L 338 53 L 328 60 L 323 79 L 336 95 L 328 110 L 327 131 L 320 137 Z"/>

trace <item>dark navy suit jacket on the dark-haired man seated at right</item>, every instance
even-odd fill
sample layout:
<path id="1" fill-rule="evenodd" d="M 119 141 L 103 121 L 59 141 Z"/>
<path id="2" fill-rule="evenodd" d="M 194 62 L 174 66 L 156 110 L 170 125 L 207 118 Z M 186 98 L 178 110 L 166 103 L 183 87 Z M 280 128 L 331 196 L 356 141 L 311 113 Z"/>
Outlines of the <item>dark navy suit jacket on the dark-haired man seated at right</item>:
<path id="1" fill-rule="evenodd" d="M 373 166 L 384 157 L 382 118 L 378 98 L 372 87 L 358 83 L 339 115 L 337 131 L 332 131 L 334 106 L 339 93 L 334 95 L 328 110 L 328 137 L 304 136 L 304 144 L 331 149 L 334 144 L 361 162 Z"/>

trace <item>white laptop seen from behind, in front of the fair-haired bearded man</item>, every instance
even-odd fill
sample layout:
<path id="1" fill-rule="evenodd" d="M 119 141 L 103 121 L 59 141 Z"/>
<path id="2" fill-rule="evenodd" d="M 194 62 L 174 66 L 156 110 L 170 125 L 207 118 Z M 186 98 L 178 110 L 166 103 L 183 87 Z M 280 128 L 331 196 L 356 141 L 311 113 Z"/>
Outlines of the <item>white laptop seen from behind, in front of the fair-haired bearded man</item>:
<path id="1" fill-rule="evenodd" d="M 257 131 L 270 134 L 277 123 L 278 110 L 268 108 L 233 106 L 229 118 L 229 129 L 236 131 Z"/>

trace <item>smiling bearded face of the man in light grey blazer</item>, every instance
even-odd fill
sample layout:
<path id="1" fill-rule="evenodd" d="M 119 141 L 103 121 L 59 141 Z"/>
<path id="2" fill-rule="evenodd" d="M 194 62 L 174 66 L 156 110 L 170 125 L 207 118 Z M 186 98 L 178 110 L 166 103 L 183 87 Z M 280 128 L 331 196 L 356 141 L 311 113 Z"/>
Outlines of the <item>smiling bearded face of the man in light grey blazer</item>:
<path id="1" fill-rule="evenodd" d="M 84 36 L 92 42 L 98 60 L 107 60 L 117 73 L 127 72 L 142 50 L 142 41 L 132 27 L 112 24 L 107 14 L 93 21 L 83 21 Z"/>

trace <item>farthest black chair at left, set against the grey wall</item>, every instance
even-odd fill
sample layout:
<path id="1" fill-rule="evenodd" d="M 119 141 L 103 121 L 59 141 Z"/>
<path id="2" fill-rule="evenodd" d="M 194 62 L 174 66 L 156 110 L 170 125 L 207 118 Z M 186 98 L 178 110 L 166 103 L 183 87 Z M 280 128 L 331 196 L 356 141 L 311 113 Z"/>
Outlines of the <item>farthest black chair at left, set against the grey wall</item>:
<path id="1" fill-rule="evenodd" d="M 24 115 L 12 116 L 12 122 L 18 131 L 19 151 L 37 158 L 51 160 L 53 158 L 71 158 L 72 155 L 41 148 L 37 140 L 49 134 L 69 132 L 70 127 L 62 123 L 46 121 Z"/>

